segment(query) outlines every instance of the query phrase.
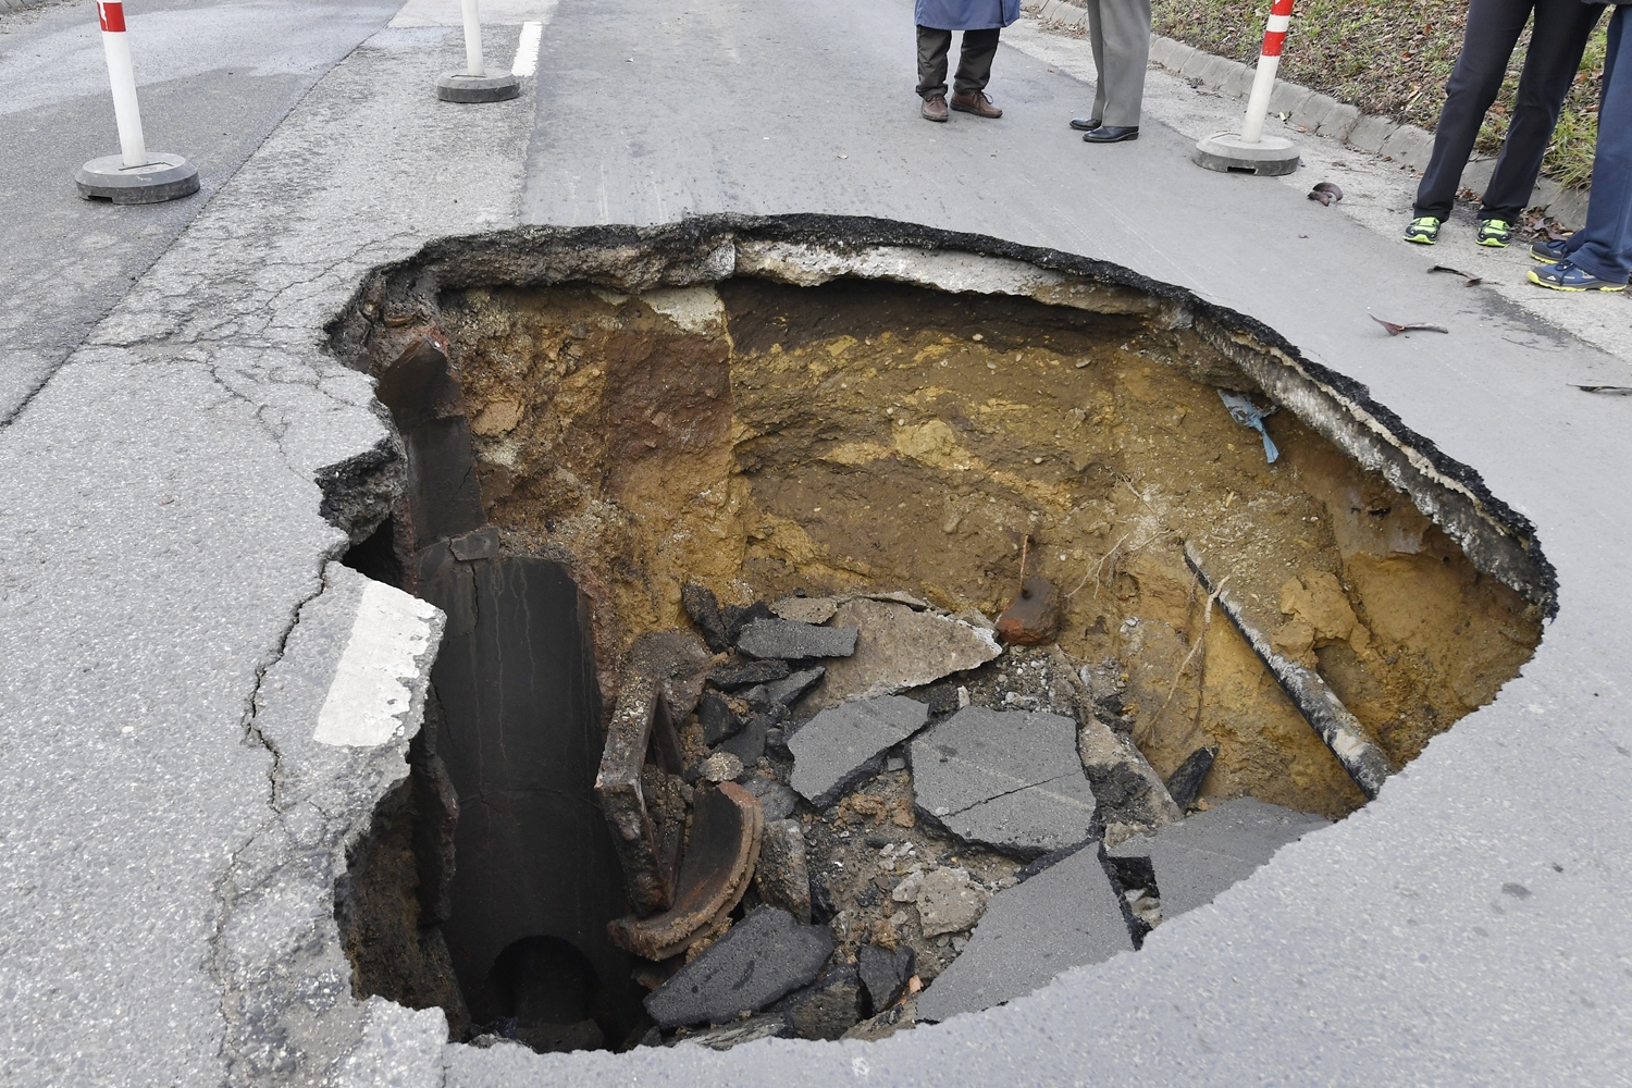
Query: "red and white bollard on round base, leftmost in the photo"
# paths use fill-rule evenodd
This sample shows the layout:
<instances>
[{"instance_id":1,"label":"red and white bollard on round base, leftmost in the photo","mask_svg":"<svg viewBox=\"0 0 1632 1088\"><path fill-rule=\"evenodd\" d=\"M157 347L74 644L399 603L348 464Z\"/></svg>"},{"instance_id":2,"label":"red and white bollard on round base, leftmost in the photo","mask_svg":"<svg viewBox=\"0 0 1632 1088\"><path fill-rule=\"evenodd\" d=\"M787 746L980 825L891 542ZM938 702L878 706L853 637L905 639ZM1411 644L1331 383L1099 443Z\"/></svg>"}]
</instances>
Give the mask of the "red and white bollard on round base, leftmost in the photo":
<instances>
[{"instance_id":1,"label":"red and white bollard on round base, leftmost in the photo","mask_svg":"<svg viewBox=\"0 0 1632 1088\"><path fill-rule=\"evenodd\" d=\"M119 126L119 153L93 158L73 181L80 196L114 204L160 204L199 191L197 166L180 155L150 153L142 137L142 111L135 101L135 67L124 29L124 3L98 0L96 18L108 55L113 114Z\"/></svg>"}]
</instances>

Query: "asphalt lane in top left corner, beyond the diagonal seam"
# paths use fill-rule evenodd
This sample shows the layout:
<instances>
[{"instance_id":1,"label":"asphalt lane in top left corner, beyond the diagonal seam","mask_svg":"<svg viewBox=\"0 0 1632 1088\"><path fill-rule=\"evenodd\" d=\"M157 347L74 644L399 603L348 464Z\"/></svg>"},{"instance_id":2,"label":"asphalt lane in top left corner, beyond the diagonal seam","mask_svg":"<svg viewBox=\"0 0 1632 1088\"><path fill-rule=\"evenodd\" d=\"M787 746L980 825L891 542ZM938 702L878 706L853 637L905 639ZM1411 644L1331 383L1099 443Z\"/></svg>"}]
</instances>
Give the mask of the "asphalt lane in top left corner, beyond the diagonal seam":
<instances>
[{"instance_id":1,"label":"asphalt lane in top left corner, beyond the diagonal seam","mask_svg":"<svg viewBox=\"0 0 1632 1088\"><path fill-rule=\"evenodd\" d=\"M186 228L300 96L397 11L387 0L131 0L147 147L199 168L199 192L114 207L73 171L119 150L96 8L0 11L0 424Z\"/></svg>"}]
</instances>

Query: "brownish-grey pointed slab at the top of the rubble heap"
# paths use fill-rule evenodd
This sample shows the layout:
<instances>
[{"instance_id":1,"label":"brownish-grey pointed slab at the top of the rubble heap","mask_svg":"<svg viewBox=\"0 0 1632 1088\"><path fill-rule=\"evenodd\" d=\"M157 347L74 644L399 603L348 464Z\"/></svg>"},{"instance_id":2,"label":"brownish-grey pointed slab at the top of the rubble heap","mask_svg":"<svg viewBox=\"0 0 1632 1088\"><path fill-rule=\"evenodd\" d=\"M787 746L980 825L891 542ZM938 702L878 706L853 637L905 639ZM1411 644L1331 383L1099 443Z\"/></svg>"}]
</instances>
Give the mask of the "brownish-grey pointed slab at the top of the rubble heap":
<instances>
[{"instance_id":1,"label":"brownish-grey pointed slab at the top of the rubble heap","mask_svg":"<svg viewBox=\"0 0 1632 1088\"><path fill-rule=\"evenodd\" d=\"M844 602L834 623L857 628L855 654L827 664L814 693L823 706L896 695L1002 652L991 631L963 620L867 597Z\"/></svg>"}]
</instances>

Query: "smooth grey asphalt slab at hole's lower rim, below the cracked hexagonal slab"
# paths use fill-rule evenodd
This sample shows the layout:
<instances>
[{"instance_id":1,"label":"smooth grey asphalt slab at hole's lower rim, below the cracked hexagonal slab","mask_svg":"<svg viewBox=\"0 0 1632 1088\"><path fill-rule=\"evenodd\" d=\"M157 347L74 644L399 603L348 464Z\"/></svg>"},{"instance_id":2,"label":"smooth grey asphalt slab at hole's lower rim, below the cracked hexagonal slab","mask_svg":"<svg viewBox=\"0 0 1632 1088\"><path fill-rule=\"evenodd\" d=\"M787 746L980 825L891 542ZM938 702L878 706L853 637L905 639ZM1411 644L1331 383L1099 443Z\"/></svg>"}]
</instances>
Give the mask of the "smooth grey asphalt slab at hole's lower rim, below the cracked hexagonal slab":
<instances>
[{"instance_id":1,"label":"smooth grey asphalt slab at hole's lower rim, below the cracked hexagonal slab","mask_svg":"<svg viewBox=\"0 0 1632 1088\"><path fill-rule=\"evenodd\" d=\"M919 997L919 1019L1000 1005L1067 967L1133 951L1100 850L1079 850L992 897L968 948Z\"/></svg>"}]
</instances>

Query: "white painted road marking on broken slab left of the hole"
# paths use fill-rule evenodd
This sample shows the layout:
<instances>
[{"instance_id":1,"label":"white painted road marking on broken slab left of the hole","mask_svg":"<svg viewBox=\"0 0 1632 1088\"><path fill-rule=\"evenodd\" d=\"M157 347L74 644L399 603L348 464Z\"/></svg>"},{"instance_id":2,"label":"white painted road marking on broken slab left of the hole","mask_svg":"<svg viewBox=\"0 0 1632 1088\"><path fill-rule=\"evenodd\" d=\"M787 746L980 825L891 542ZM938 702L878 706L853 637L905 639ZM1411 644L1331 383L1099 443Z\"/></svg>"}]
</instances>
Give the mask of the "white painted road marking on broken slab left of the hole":
<instances>
[{"instance_id":1,"label":"white painted road marking on broken slab left of the hole","mask_svg":"<svg viewBox=\"0 0 1632 1088\"><path fill-rule=\"evenodd\" d=\"M375 747L397 736L413 706L408 682L419 672L416 659L431 641L434 618L436 605L382 582L364 586L312 739Z\"/></svg>"}]
</instances>

